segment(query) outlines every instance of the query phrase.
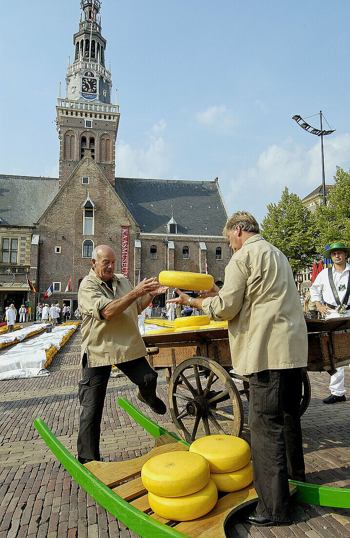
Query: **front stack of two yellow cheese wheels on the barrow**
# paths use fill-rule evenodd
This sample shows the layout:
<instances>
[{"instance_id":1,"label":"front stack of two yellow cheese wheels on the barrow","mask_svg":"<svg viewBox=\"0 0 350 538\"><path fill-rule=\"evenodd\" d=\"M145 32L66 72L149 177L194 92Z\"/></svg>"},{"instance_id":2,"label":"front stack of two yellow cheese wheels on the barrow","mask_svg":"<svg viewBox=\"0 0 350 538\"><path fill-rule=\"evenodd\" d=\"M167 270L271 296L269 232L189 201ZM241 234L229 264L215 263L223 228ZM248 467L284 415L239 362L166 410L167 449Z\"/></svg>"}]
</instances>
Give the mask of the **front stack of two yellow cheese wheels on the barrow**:
<instances>
[{"instance_id":1,"label":"front stack of two yellow cheese wheels on the barrow","mask_svg":"<svg viewBox=\"0 0 350 538\"><path fill-rule=\"evenodd\" d=\"M152 510L162 518L189 521L214 508L217 488L209 464L194 452L166 452L154 456L141 470Z\"/></svg>"}]
</instances>

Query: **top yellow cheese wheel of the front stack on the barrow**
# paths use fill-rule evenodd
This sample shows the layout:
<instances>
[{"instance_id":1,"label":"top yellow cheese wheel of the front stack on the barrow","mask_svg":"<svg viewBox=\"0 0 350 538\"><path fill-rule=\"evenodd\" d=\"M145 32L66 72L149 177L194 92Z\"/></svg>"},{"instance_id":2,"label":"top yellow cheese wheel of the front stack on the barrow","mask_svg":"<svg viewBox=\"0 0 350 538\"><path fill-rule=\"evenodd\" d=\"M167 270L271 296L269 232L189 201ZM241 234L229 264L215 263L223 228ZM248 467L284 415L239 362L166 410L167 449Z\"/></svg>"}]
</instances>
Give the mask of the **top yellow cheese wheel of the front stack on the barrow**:
<instances>
[{"instance_id":1,"label":"top yellow cheese wheel of the front stack on the barrow","mask_svg":"<svg viewBox=\"0 0 350 538\"><path fill-rule=\"evenodd\" d=\"M208 484L208 462L194 452L166 452L146 462L141 470L144 487L162 497L182 497Z\"/></svg>"}]
</instances>

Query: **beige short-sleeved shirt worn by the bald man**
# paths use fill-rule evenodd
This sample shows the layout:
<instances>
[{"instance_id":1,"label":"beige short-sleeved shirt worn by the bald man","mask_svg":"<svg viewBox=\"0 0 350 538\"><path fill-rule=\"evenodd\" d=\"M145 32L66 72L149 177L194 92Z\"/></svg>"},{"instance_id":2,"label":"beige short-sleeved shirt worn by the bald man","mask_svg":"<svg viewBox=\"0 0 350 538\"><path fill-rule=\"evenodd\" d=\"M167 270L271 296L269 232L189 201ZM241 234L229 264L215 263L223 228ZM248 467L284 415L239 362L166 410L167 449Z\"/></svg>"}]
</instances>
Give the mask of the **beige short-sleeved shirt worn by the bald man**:
<instances>
[{"instance_id":1,"label":"beige short-sleeved shirt worn by the bald man","mask_svg":"<svg viewBox=\"0 0 350 538\"><path fill-rule=\"evenodd\" d=\"M146 353L137 325L141 298L111 320L100 316L100 310L132 289L122 274L115 274L112 280L113 292L91 269L79 287L78 305L83 315L82 357L86 352L88 366L119 364Z\"/></svg>"}]
</instances>

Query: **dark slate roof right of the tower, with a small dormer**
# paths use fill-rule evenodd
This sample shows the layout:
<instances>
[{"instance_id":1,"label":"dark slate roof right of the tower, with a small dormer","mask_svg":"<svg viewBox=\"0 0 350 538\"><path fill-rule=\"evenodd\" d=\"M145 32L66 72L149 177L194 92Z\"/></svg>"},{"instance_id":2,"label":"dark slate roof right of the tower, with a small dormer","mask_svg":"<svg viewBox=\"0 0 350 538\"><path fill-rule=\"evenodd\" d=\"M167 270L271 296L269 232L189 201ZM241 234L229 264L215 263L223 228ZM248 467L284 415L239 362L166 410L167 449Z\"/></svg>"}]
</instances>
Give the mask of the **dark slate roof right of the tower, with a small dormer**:
<instances>
[{"instance_id":1,"label":"dark slate roof right of the tower, with a small dormer","mask_svg":"<svg viewBox=\"0 0 350 538\"><path fill-rule=\"evenodd\" d=\"M215 181L115 178L115 192L145 233L167 233L173 213L178 233L221 236L228 217Z\"/></svg>"}]
</instances>

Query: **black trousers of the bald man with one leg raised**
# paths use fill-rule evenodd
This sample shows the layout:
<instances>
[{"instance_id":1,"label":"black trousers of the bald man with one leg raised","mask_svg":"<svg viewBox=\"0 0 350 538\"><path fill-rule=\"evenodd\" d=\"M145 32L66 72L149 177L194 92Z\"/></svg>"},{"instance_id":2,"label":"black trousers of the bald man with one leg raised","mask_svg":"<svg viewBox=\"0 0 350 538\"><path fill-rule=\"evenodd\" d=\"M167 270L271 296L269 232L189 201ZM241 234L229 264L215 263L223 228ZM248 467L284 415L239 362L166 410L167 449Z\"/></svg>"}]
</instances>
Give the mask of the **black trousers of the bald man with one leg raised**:
<instances>
[{"instance_id":1,"label":"black trousers of the bald man with one leg raised","mask_svg":"<svg viewBox=\"0 0 350 538\"><path fill-rule=\"evenodd\" d=\"M145 357L118 364L119 370L138 385L143 399L155 405L158 374ZM100 435L105 397L112 366L88 366L86 354L83 356L83 379L78 384L78 396L83 407L79 420L77 440L78 461L101 461Z\"/></svg>"}]
</instances>

